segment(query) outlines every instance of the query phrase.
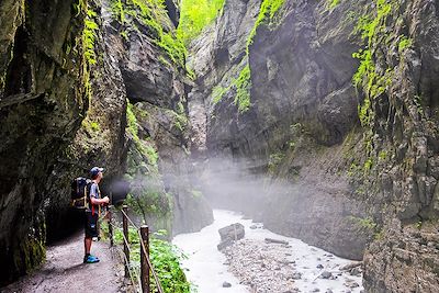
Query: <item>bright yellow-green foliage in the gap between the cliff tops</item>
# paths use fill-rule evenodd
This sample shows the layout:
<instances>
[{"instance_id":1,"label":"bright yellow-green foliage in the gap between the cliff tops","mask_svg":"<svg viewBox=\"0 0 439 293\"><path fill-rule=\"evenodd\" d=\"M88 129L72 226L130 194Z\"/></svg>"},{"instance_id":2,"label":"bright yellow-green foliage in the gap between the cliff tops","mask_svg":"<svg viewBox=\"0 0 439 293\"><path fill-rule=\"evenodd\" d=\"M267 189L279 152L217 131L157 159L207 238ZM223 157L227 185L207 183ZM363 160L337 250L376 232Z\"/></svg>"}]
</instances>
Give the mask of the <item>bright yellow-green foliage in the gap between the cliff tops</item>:
<instances>
[{"instance_id":1,"label":"bright yellow-green foliage in the gap between the cliff tops","mask_svg":"<svg viewBox=\"0 0 439 293\"><path fill-rule=\"evenodd\" d=\"M178 35L184 44L195 38L222 11L225 0L182 0Z\"/></svg>"}]
</instances>

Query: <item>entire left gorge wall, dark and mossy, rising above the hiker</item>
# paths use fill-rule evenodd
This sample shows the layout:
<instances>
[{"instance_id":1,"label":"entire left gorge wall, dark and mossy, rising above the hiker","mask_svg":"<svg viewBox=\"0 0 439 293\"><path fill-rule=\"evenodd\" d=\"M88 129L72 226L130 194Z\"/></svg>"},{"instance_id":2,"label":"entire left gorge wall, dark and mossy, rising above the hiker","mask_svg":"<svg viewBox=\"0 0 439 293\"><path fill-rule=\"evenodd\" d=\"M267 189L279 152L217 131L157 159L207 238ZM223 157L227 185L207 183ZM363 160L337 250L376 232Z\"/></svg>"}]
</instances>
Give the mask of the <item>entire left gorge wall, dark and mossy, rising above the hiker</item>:
<instances>
[{"instance_id":1,"label":"entire left gorge wall, dark and mossy, rising above the hiker","mask_svg":"<svg viewBox=\"0 0 439 293\"><path fill-rule=\"evenodd\" d=\"M142 195L146 187L137 183L156 180L155 202L146 205L153 229L212 222L187 172L185 56L175 58L158 42L175 24L166 7L145 2L154 12L146 15L136 3L0 4L10 20L0 27L0 285L37 267L46 240L82 225L69 209L70 182L92 166L105 168L105 194L123 179Z\"/></svg>"}]
</instances>

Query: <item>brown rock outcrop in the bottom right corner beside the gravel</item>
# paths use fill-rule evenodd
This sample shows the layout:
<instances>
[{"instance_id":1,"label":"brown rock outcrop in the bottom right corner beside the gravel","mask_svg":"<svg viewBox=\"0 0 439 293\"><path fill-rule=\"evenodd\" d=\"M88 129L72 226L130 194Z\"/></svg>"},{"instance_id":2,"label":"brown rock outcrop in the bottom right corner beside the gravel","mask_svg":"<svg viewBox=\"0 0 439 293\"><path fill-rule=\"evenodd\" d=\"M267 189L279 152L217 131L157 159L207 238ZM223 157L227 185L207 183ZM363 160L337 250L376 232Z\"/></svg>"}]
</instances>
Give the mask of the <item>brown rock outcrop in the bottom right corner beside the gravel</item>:
<instances>
[{"instance_id":1,"label":"brown rock outcrop in the bottom right corner beside the gravel","mask_svg":"<svg viewBox=\"0 0 439 293\"><path fill-rule=\"evenodd\" d=\"M364 256L367 292L435 292L439 286L438 232L393 219Z\"/></svg>"}]
</instances>

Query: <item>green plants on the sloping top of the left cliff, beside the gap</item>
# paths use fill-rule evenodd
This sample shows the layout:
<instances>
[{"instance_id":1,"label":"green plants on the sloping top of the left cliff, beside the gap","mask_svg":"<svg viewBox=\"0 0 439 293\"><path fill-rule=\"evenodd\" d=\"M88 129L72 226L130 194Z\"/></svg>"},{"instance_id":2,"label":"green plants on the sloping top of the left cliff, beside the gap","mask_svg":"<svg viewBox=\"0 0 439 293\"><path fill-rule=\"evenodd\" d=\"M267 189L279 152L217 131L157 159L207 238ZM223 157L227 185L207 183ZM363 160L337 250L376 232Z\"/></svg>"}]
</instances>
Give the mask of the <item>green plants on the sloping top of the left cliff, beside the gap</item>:
<instances>
[{"instance_id":1,"label":"green plants on the sloping top of the left cliff, beside the gap","mask_svg":"<svg viewBox=\"0 0 439 293\"><path fill-rule=\"evenodd\" d=\"M165 0L112 0L111 7L114 18L125 30L125 38L130 30L140 30L137 26L140 23L149 30L154 44L161 47L172 63L185 68L184 43L178 34L166 31L161 24L168 18Z\"/></svg>"}]
</instances>

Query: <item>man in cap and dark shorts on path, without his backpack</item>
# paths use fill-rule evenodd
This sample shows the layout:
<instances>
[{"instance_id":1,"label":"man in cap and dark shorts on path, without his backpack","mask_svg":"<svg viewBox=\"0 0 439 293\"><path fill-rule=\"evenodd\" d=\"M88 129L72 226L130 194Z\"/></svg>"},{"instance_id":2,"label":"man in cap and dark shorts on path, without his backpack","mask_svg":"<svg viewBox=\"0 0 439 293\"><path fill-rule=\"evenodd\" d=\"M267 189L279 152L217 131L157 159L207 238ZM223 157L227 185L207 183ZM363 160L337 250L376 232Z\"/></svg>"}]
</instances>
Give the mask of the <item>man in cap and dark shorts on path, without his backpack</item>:
<instances>
[{"instance_id":1,"label":"man in cap and dark shorts on path, without his backpack","mask_svg":"<svg viewBox=\"0 0 439 293\"><path fill-rule=\"evenodd\" d=\"M102 180L103 168L93 167L90 170L91 184L90 184L90 209L86 211L86 238L83 245L86 249L86 256L83 257L83 263L99 262L99 258L90 255L91 243L93 238L99 238L98 218L100 214L100 206L109 204L110 199L108 196L101 199L101 191L99 190L99 182Z\"/></svg>"}]
</instances>

